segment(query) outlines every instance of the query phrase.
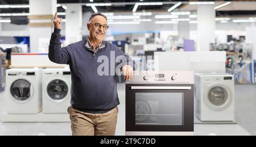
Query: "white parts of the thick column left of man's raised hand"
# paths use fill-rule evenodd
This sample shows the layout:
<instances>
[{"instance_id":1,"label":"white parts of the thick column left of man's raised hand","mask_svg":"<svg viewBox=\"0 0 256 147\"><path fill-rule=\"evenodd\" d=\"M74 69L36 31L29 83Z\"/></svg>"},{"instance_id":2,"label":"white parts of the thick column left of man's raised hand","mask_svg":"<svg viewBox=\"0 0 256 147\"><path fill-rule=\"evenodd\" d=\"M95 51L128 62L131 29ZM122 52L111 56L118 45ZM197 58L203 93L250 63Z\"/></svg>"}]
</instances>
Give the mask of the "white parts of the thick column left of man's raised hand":
<instances>
[{"instance_id":1,"label":"white parts of the thick column left of man's raised hand","mask_svg":"<svg viewBox=\"0 0 256 147\"><path fill-rule=\"evenodd\" d=\"M56 0L30 0L30 15L54 15L57 11L56 3ZM42 48L47 47L47 40L49 42L51 33L50 26L30 27L30 52L44 52L43 50L47 52L47 49Z\"/></svg>"}]
</instances>

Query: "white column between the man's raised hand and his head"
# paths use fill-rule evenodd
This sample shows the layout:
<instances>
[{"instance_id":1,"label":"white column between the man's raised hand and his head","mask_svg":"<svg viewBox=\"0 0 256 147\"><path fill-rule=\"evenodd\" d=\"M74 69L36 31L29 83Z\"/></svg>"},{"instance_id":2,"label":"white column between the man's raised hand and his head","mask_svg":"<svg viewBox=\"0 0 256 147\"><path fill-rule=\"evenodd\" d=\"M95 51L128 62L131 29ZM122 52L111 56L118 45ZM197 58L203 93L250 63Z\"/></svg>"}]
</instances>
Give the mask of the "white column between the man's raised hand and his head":
<instances>
[{"instance_id":1,"label":"white column between the man's raised hand and his head","mask_svg":"<svg viewBox=\"0 0 256 147\"><path fill-rule=\"evenodd\" d=\"M65 44L82 40L82 6L67 5L65 24Z\"/></svg>"}]
</instances>

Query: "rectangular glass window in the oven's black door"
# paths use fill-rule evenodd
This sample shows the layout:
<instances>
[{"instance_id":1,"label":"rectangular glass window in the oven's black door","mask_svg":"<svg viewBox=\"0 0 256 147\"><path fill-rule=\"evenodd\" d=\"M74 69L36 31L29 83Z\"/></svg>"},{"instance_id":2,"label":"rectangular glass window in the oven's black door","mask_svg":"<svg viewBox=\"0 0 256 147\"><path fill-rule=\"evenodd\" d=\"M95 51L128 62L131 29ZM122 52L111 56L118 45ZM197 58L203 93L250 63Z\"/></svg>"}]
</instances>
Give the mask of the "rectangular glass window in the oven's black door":
<instances>
[{"instance_id":1,"label":"rectangular glass window in the oven's black door","mask_svg":"<svg viewBox=\"0 0 256 147\"><path fill-rule=\"evenodd\" d=\"M183 125L183 93L135 96L135 125Z\"/></svg>"}]
</instances>

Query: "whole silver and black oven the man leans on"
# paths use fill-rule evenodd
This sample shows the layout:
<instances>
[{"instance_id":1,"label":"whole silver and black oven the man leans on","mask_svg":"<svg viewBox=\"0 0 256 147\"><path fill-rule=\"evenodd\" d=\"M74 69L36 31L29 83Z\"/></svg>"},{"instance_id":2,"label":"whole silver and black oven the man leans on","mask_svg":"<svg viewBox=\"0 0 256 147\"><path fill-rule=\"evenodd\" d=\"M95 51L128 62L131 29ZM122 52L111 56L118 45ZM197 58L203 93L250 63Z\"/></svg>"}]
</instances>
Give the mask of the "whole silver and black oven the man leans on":
<instances>
[{"instance_id":1,"label":"whole silver and black oven the man leans on","mask_svg":"<svg viewBox=\"0 0 256 147\"><path fill-rule=\"evenodd\" d=\"M126 82L126 135L193 135L193 72L134 71Z\"/></svg>"}]
</instances>

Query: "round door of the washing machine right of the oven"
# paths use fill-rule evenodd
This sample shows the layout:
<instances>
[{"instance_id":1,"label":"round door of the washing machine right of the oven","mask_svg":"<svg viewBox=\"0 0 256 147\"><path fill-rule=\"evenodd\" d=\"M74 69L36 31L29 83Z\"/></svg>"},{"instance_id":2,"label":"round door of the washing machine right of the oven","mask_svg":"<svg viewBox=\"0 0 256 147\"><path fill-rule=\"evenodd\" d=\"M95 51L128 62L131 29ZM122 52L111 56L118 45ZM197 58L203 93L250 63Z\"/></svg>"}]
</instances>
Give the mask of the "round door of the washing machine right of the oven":
<instances>
[{"instance_id":1,"label":"round door of the washing machine right of the oven","mask_svg":"<svg viewBox=\"0 0 256 147\"><path fill-rule=\"evenodd\" d=\"M221 83L210 85L204 94L204 102L214 111L223 111L232 103L233 95L228 86Z\"/></svg>"}]
</instances>

